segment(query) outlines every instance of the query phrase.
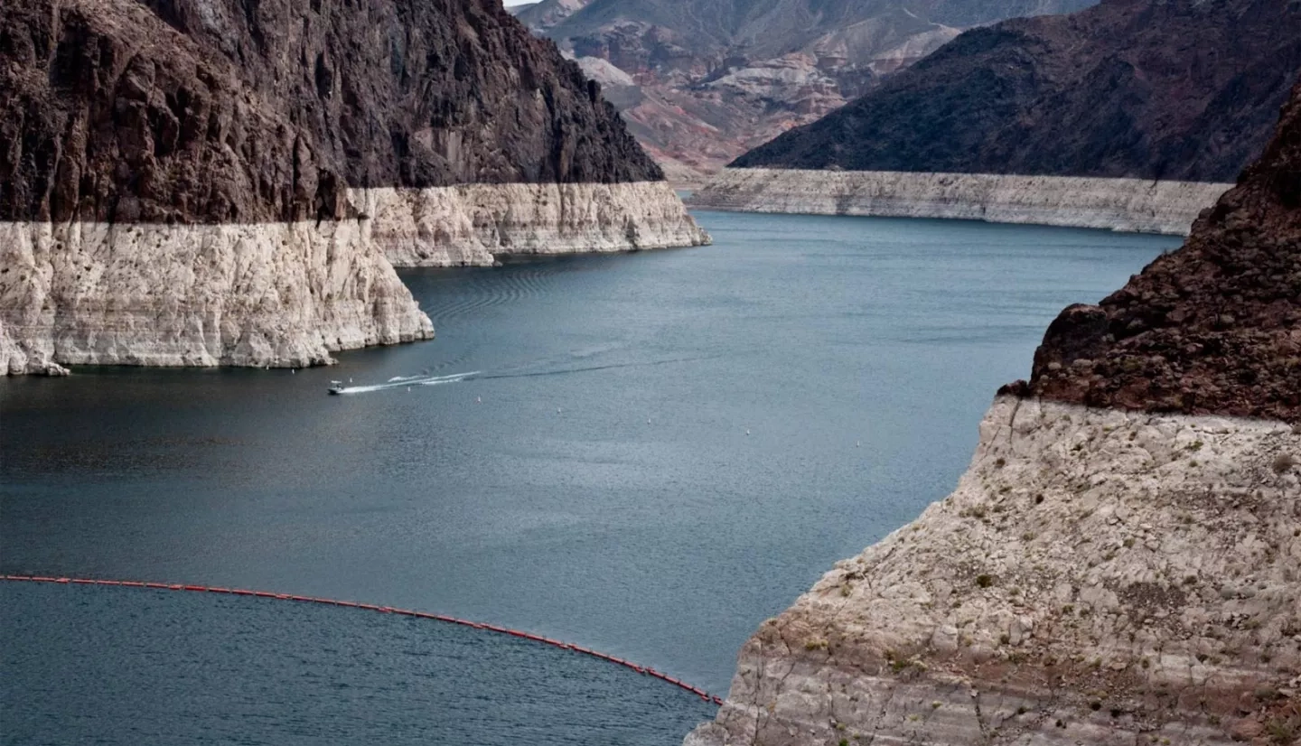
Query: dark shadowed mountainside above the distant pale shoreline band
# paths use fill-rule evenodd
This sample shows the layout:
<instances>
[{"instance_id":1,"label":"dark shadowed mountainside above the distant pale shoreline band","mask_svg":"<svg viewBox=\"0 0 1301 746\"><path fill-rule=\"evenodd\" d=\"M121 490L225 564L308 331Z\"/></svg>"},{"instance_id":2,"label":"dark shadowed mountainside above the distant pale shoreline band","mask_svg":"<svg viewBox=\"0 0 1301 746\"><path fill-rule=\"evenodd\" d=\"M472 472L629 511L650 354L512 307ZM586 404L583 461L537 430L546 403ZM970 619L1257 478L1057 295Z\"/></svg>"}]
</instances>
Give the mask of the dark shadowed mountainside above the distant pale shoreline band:
<instances>
[{"instance_id":1,"label":"dark shadowed mountainside above the distant pale shoreline band","mask_svg":"<svg viewBox=\"0 0 1301 746\"><path fill-rule=\"evenodd\" d=\"M1106 0L968 31L735 166L1232 181L1301 73L1301 5Z\"/></svg>"}]
</instances>

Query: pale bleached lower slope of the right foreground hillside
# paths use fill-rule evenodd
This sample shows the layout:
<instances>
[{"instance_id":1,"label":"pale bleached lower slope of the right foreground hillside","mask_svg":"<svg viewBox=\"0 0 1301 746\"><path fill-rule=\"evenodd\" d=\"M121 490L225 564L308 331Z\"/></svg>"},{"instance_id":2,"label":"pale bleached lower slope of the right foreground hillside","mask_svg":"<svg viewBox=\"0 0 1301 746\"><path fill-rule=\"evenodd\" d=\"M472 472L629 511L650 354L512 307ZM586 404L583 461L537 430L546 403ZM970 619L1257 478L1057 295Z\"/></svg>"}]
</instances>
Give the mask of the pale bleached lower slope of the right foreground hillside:
<instances>
[{"instance_id":1,"label":"pale bleached lower slope of the right foreground hillside","mask_svg":"<svg viewBox=\"0 0 1301 746\"><path fill-rule=\"evenodd\" d=\"M1002 396L958 489L764 623L687 743L1194 746L1301 725L1291 454L1283 422Z\"/></svg>"}]
</instances>

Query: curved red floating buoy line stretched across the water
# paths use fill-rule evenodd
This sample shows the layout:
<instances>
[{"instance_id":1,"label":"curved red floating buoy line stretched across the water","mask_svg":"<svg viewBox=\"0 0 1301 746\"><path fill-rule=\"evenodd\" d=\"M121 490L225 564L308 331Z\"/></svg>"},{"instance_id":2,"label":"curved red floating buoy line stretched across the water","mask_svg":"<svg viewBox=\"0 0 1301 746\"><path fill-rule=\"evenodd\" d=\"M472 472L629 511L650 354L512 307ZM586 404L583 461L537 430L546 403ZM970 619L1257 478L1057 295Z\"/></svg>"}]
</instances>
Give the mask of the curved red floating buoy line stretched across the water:
<instances>
[{"instance_id":1,"label":"curved red floating buoy line stretched across the water","mask_svg":"<svg viewBox=\"0 0 1301 746\"><path fill-rule=\"evenodd\" d=\"M288 594L288 593L271 593L271 591L265 591L265 590L245 590L245 589L238 589L238 587L216 587L216 586L206 586L206 585L183 585L183 584L168 584L168 582L142 582L142 581L133 581L133 580L87 580L87 578L79 578L79 577L44 577L44 576L30 576L30 574L5 574L5 576L0 576L0 580L20 581L20 582L49 582L49 584L60 584L60 585L107 585L107 586L117 586L117 587L143 587L143 589L152 589L152 590L189 590L189 591L195 591L195 593L221 593L221 594L226 594L226 595L251 595L251 597L255 597L255 598L272 598L272 599L278 599L278 600L298 600L298 602L304 602L304 603L320 603L320 604L325 604L325 606L341 606L341 607L346 607L346 608L364 608L367 611L377 611L377 612L381 612L381 613L398 613L398 615L402 615L402 616L414 616L416 619L432 619L435 621L444 621L444 623L449 623L449 624L459 624L462 626L472 626L475 629L487 629L488 632L496 632L498 634L509 634L511 637L519 637L519 638L523 638L523 639L530 639L532 642L541 642L541 643L545 643L545 645L550 645L553 647L559 647L562 650L571 650L574 652L580 652L583 655L589 655L592 658L600 658L601 660L606 660L609 663L615 663L618 665L624 665L627 668L631 668L632 671L636 671L637 673L641 673L644 676L653 676L654 678L658 678L661 681L667 681L669 684L673 684L674 686L677 686L679 689L684 689L684 690L695 694L696 697L700 697L705 702L713 702L714 704L722 704L723 703L723 701L722 701L721 697L714 697L714 695L709 694L708 691L705 691L704 689L692 686L692 685L687 684L686 681L679 681L679 680L669 676L667 673L660 673L658 671L656 671L654 668L650 668L648 665L637 665L636 663L632 663L631 660L623 660L622 658L615 658L613 655L606 655L604 652L598 652L596 650L591 650L591 649L583 647L580 645L572 645L572 643L569 643L569 642L561 642L559 639L552 639L549 637L541 637L541 636L537 636L537 634L530 634L527 632L520 632L518 629L507 629L505 626L497 626L494 624L484 624L484 623L480 623L480 621L470 621L467 619L457 619L454 616L446 616L446 615L442 615L442 613L429 613L429 612L424 612L424 611L411 611L411 610L406 610L406 608L393 608L390 606L376 606L373 603L358 603L355 600L336 600L336 599L332 599L332 598L316 598L316 597L312 597L312 595L294 595L294 594Z\"/></svg>"}]
</instances>

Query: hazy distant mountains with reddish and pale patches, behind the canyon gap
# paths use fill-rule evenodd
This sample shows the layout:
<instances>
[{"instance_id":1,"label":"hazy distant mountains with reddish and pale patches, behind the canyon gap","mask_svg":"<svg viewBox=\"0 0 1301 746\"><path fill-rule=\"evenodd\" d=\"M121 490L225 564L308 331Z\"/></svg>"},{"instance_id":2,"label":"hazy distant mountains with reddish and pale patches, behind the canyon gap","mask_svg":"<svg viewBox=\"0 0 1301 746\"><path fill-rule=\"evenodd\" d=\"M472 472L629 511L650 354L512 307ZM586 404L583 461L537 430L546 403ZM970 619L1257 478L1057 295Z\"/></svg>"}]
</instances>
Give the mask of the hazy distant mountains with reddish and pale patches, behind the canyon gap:
<instances>
[{"instance_id":1,"label":"hazy distant mountains with reddish and pale patches, behind the canyon gap","mask_svg":"<svg viewBox=\"0 0 1301 746\"><path fill-rule=\"evenodd\" d=\"M544 0L520 18L580 61L631 78L608 90L630 130L670 178L699 182L961 29L1092 1Z\"/></svg>"}]
</instances>

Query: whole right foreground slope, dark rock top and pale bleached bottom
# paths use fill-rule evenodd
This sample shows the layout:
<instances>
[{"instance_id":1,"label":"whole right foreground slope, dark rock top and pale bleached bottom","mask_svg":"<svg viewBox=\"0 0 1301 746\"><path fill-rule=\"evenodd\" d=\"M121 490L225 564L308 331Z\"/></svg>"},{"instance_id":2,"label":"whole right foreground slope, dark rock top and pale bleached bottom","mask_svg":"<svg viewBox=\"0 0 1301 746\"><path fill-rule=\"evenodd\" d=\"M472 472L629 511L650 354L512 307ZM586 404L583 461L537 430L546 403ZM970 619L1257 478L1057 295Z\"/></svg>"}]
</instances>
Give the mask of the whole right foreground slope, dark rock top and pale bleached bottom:
<instances>
[{"instance_id":1,"label":"whole right foreground slope, dark rock top and pale bleached bottom","mask_svg":"<svg viewBox=\"0 0 1301 746\"><path fill-rule=\"evenodd\" d=\"M1296 743L1298 144L1301 83L1185 247L1066 309L958 489L764 623L687 743Z\"/></svg>"}]
</instances>

